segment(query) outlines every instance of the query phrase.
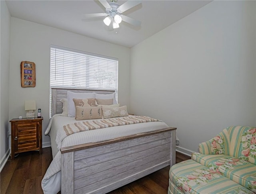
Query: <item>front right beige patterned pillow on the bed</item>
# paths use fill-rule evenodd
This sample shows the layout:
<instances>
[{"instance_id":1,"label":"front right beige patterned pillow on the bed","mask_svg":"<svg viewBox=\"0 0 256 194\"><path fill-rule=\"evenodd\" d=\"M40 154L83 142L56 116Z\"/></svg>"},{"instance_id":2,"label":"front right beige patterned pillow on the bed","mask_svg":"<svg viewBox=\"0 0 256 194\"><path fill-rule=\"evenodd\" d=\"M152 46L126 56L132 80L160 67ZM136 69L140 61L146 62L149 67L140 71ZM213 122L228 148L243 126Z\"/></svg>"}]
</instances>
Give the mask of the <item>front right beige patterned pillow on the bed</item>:
<instances>
[{"instance_id":1,"label":"front right beige patterned pillow on the bed","mask_svg":"<svg viewBox=\"0 0 256 194\"><path fill-rule=\"evenodd\" d=\"M126 116L128 116L126 106L112 107L112 108L102 107L103 119L108 119L113 117L126 117Z\"/></svg>"}]
</instances>

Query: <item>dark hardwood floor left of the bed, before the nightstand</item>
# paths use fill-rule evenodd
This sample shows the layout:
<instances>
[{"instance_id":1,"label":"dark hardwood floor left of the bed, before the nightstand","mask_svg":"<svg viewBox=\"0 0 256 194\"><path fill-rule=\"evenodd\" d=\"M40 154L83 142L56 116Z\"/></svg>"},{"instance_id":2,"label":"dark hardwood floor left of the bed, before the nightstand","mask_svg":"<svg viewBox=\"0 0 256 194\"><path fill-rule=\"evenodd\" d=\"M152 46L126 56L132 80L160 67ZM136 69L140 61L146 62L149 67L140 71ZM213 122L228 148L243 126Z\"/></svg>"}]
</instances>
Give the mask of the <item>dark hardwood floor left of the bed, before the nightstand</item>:
<instances>
[{"instance_id":1,"label":"dark hardwood floor left of the bed, before the nightstand","mask_svg":"<svg viewBox=\"0 0 256 194\"><path fill-rule=\"evenodd\" d=\"M52 161L52 149L20 153L8 159L0 174L1 194L43 194L41 180Z\"/></svg>"}]
</instances>

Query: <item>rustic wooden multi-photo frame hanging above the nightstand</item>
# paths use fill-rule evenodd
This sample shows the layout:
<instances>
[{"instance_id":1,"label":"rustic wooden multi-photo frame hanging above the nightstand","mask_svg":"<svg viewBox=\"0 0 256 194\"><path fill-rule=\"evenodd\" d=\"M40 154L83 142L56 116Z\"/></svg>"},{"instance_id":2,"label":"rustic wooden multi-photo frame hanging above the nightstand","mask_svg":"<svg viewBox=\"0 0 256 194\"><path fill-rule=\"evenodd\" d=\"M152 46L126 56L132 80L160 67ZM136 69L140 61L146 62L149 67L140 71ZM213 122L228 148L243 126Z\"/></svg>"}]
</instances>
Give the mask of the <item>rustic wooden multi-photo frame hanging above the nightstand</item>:
<instances>
[{"instance_id":1,"label":"rustic wooden multi-photo frame hanging above the nightstand","mask_svg":"<svg viewBox=\"0 0 256 194\"><path fill-rule=\"evenodd\" d=\"M21 87L36 86L36 65L34 62L22 61L20 63Z\"/></svg>"}]
</instances>

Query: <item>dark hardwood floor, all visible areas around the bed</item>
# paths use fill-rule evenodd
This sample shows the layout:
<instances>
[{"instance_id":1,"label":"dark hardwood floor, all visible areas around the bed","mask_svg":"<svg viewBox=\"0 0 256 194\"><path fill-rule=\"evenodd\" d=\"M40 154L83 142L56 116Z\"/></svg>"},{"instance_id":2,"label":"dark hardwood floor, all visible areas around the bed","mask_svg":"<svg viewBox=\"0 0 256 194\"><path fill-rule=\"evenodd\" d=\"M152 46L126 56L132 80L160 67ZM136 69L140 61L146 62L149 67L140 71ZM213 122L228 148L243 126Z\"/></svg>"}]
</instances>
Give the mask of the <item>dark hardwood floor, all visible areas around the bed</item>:
<instances>
[{"instance_id":1,"label":"dark hardwood floor, all visible areas around the bed","mask_svg":"<svg viewBox=\"0 0 256 194\"><path fill-rule=\"evenodd\" d=\"M186 159L190 157L176 153L176 163ZM43 194L41 180L51 161L50 147L43 148L42 155L31 151L20 153L13 160L9 158L0 174L0 193ZM108 194L166 194L169 169L170 167L160 169Z\"/></svg>"}]
</instances>

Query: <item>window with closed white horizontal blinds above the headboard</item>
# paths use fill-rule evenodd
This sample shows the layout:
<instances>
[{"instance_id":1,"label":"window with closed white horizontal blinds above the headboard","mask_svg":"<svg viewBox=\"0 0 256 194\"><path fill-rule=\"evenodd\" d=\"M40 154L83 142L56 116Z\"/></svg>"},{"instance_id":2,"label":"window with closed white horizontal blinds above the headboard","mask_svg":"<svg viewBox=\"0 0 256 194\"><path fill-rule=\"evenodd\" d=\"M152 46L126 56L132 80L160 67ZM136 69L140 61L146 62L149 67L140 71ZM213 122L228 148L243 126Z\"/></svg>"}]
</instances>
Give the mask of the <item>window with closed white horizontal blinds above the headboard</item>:
<instances>
[{"instance_id":1,"label":"window with closed white horizontal blinds above the headboard","mask_svg":"<svg viewBox=\"0 0 256 194\"><path fill-rule=\"evenodd\" d=\"M118 59L51 45L51 88L115 90L118 101Z\"/></svg>"}]
</instances>

